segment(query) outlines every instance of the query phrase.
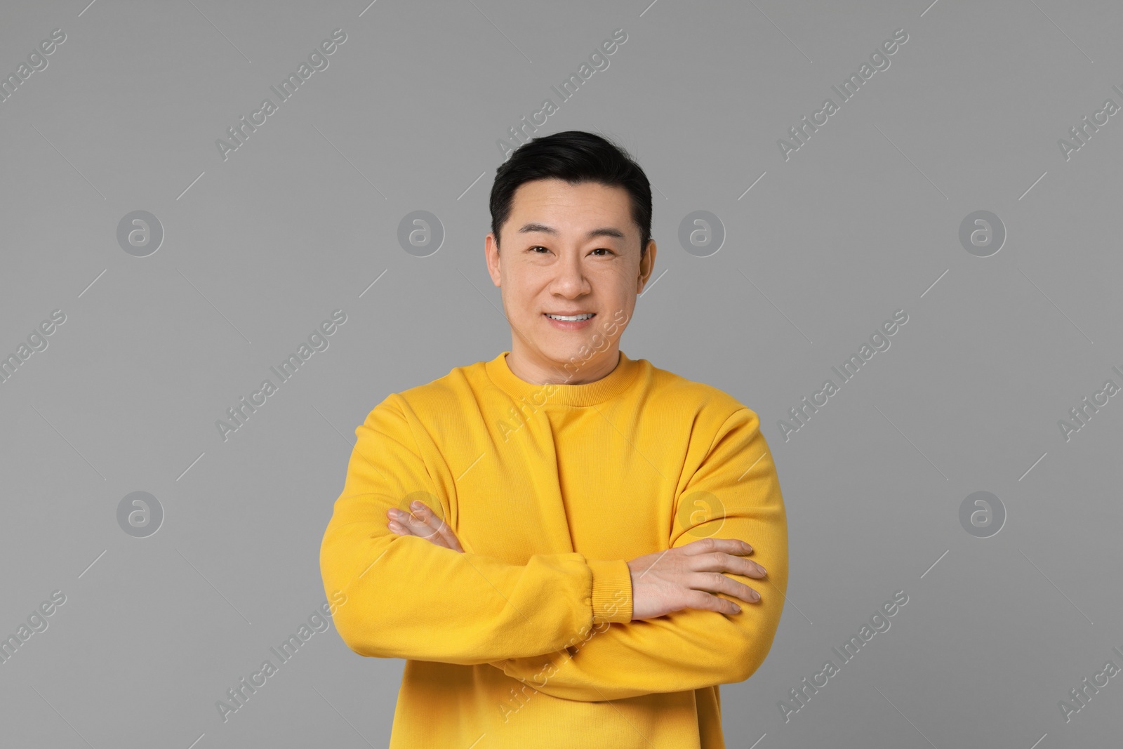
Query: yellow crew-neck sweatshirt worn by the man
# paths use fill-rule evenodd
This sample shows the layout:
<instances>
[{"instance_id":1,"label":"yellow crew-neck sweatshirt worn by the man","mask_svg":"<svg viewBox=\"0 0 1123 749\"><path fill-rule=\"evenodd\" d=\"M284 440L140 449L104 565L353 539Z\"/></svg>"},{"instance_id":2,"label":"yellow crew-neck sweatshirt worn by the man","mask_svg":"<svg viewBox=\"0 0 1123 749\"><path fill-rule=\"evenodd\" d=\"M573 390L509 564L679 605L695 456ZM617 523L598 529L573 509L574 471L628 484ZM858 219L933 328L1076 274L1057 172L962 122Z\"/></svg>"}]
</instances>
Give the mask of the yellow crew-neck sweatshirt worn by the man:
<instances>
[{"instance_id":1,"label":"yellow crew-neck sweatshirt worn by the man","mask_svg":"<svg viewBox=\"0 0 1123 749\"><path fill-rule=\"evenodd\" d=\"M340 637L407 660L390 749L723 748L718 685L764 661L787 588L757 414L622 351L579 385L508 353L376 405L323 535ZM417 499L463 554L386 528ZM760 601L631 621L628 560L706 537L752 546L767 578L724 574Z\"/></svg>"}]
</instances>

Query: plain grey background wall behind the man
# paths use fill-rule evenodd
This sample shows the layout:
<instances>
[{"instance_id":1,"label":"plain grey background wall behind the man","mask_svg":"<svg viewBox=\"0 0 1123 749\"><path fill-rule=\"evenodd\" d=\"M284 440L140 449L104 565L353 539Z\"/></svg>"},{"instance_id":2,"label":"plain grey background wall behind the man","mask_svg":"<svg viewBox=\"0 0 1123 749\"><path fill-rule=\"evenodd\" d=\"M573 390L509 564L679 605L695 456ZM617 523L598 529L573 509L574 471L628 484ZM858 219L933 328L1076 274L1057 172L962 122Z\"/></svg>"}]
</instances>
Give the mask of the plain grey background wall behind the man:
<instances>
[{"instance_id":1,"label":"plain grey background wall behind the man","mask_svg":"<svg viewBox=\"0 0 1123 749\"><path fill-rule=\"evenodd\" d=\"M1123 383L1123 115L1068 161L1057 144L1123 104L1116 3L0 16L3 75L66 34L0 103L0 353L66 314L0 384L0 633L66 596L0 665L4 746L386 746L403 661L334 628L227 722L214 703L323 603L319 544L367 411L510 348L483 262L496 140L617 28L539 135L596 130L646 170L658 280L622 349L757 411L788 511L788 603L764 666L722 687L728 746L1119 742L1119 678L1067 724L1058 707L1123 666L1123 398L1058 427ZM336 28L329 67L223 161L214 140ZM898 28L889 68L785 161L777 138ZM135 210L163 227L147 257L117 243ZM398 244L414 210L445 230L428 257ZM709 257L677 240L695 210L724 227ZM990 257L958 239L976 210L1007 231ZM216 420L339 308L329 348L223 442ZM892 347L785 441L777 420L898 309ZM136 491L164 512L147 538L117 520ZM959 521L976 491L1007 513L989 538ZM892 628L785 722L777 701L898 590Z\"/></svg>"}]
</instances>

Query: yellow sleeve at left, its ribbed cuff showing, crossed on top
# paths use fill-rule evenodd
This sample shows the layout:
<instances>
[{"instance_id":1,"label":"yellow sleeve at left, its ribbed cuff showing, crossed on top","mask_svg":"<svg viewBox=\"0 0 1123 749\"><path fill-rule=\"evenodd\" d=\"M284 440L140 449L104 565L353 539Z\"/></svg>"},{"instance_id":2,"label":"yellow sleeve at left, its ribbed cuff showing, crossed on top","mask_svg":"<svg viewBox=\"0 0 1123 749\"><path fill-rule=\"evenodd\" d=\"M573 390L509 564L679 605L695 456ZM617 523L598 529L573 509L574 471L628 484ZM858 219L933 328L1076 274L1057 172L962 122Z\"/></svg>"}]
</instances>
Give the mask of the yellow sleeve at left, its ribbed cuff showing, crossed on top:
<instances>
[{"instance_id":1,"label":"yellow sleeve at left, its ribbed cuff showing, crossed on top","mask_svg":"<svg viewBox=\"0 0 1123 749\"><path fill-rule=\"evenodd\" d=\"M391 395L356 428L347 477L320 547L325 591L346 595L334 621L355 652L485 664L565 647L594 621L623 621L613 605L631 583L623 560L541 554L526 565L460 554L386 528L386 510L413 492L440 496L411 426ZM436 509L436 508L435 508Z\"/></svg>"}]
</instances>

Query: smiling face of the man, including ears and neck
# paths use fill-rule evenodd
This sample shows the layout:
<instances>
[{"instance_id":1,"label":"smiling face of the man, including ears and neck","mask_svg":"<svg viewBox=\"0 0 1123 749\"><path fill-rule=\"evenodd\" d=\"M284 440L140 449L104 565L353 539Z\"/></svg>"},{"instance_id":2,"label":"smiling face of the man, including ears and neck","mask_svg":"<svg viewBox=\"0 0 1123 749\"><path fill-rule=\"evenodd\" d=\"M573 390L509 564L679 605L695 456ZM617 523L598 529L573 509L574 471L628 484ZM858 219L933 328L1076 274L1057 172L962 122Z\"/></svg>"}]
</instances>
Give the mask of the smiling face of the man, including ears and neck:
<instances>
[{"instance_id":1,"label":"smiling face of the man, including ears and neck","mask_svg":"<svg viewBox=\"0 0 1123 749\"><path fill-rule=\"evenodd\" d=\"M656 253L649 241L640 261L628 191L593 182L524 182L500 239L496 248L487 235L487 271L511 323L512 371L551 372L554 381L557 373L573 375L575 384L611 372ZM587 312L592 319L578 322L547 317Z\"/></svg>"}]
</instances>

